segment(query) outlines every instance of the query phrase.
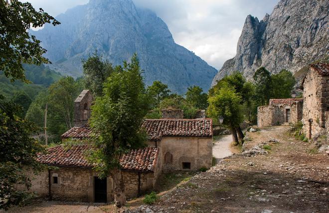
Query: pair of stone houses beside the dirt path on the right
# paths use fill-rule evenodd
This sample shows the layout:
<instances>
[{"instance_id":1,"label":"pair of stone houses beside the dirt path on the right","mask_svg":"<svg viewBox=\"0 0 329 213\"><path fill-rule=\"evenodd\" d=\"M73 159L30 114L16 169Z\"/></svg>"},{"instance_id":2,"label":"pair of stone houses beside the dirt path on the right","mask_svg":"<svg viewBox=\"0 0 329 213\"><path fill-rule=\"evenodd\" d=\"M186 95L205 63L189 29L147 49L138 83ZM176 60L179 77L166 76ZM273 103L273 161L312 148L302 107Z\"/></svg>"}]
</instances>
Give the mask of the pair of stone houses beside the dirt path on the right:
<instances>
[{"instance_id":1,"label":"pair of stone houses beside the dirt path on the right","mask_svg":"<svg viewBox=\"0 0 329 213\"><path fill-rule=\"evenodd\" d=\"M258 126L302 121L309 139L329 136L329 64L311 64L302 87L301 99L271 99L268 106L259 106Z\"/></svg>"}]
</instances>

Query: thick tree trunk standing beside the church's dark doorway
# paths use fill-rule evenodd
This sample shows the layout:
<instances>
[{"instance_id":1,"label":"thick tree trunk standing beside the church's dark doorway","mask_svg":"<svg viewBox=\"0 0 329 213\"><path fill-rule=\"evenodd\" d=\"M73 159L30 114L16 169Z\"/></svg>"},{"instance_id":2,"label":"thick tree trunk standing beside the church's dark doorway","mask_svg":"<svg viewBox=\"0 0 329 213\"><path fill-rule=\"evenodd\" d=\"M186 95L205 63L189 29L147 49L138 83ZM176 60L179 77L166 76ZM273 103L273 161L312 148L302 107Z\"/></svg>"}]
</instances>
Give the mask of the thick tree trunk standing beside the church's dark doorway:
<instances>
[{"instance_id":1,"label":"thick tree trunk standing beside the church's dark doorway","mask_svg":"<svg viewBox=\"0 0 329 213\"><path fill-rule=\"evenodd\" d=\"M125 182L121 170L114 168L111 170L111 176L114 182L114 203L118 208L126 205Z\"/></svg>"}]
</instances>

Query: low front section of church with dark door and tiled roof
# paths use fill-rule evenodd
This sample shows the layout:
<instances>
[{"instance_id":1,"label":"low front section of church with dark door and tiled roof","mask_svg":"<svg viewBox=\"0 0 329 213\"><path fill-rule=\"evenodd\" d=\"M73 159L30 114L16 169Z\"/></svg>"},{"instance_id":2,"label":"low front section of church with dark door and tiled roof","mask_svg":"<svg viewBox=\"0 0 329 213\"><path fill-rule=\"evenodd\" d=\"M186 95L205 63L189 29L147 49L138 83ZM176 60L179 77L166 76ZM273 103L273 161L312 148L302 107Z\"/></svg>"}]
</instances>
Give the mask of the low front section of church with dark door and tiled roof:
<instances>
[{"instance_id":1,"label":"low front section of church with dark door and tiled roof","mask_svg":"<svg viewBox=\"0 0 329 213\"><path fill-rule=\"evenodd\" d=\"M98 178L94 165L86 159L91 145L58 145L39 154L38 161L56 169L43 171L32 179L31 191L39 196L81 202L111 202L114 200L114 183L111 177ZM127 198L138 197L152 191L161 172L159 149L147 147L132 150L120 159Z\"/></svg>"}]
</instances>

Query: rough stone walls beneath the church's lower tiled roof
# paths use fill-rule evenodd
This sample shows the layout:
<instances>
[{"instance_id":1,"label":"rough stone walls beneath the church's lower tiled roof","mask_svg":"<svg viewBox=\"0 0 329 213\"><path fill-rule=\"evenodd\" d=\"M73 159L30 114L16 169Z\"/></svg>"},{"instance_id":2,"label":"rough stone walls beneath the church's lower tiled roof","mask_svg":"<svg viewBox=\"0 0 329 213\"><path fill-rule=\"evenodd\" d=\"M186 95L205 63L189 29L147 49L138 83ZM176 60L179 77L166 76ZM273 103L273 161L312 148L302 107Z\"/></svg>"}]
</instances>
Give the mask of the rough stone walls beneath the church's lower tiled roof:
<instances>
[{"instance_id":1,"label":"rough stone walls beneath the church's lower tiled roof","mask_svg":"<svg viewBox=\"0 0 329 213\"><path fill-rule=\"evenodd\" d=\"M97 173L88 168L58 167L52 170L51 176L51 195L54 200L94 202L94 177ZM156 178L159 176L159 169L153 172L141 172L140 193L143 194L152 191L155 186ZM123 171L125 191L127 198L138 196L139 174L135 171ZM36 192L39 197L49 196L49 177L48 171L43 171L37 176L32 177L32 186L30 191ZM57 177L57 184L53 181ZM114 200L114 182L112 178L107 178L107 201Z\"/></svg>"}]
</instances>

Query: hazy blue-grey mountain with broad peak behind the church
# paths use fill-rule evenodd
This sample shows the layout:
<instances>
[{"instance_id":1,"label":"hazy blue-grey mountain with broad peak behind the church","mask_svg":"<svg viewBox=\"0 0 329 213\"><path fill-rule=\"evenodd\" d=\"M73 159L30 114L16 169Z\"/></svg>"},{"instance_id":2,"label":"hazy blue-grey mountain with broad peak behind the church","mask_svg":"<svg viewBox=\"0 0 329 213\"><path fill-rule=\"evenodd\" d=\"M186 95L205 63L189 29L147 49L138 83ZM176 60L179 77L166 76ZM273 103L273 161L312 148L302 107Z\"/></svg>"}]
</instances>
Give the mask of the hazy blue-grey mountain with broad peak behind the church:
<instances>
[{"instance_id":1,"label":"hazy blue-grey mountain with broad peak behind the church","mask_svg":"<svg viewBox=\"0 0 329 213\"><path fill-rule=\"evenodd\" d=\"M51 69L64 75L82 75L81 59L97 49L114 65L130 60L137 52L145 83L168 84L184 93L197 85L207 91L217 70L200 57L176 44L165 22L149 9L135 7L132 0L90 0L56 17L61 22L33 31Z\"/></svg>"}]
</instances>

